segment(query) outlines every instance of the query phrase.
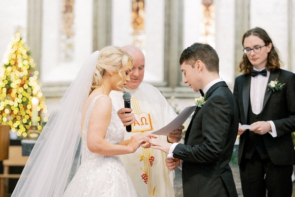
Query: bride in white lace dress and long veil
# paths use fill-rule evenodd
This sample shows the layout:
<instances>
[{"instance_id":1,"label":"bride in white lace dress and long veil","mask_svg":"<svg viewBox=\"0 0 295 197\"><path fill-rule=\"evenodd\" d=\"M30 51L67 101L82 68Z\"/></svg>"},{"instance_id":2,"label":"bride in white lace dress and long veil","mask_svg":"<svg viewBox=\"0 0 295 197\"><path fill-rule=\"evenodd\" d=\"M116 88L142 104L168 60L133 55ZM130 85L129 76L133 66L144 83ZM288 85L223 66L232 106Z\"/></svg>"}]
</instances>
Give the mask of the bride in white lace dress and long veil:
<instances>
[{"instance_id":1,"label":"bride in white lace dress and long veil","mask_svg":"<svg viewBox=\"0 0 295 197\"><path fill-rule=\"evenodd\" d=\"M109 98L130 80L132 65L116 46L91 54L40 134L12 197L136 197L118 155L149 148L156 136L122 141L126 131Z\"/></svg>"}]
</instances>

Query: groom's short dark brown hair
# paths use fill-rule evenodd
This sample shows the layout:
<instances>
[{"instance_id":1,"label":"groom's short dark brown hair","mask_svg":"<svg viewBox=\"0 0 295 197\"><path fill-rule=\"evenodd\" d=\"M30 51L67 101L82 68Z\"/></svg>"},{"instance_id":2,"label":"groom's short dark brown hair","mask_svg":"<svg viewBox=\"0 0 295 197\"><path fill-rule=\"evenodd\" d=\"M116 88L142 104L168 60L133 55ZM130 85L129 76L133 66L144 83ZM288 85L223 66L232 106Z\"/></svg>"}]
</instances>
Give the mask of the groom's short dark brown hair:
<instances>
[{"instance_id":1,"label":"groom's short dark brown hair","mask_svg":"<svg viewBox=\"0 0 295 197\"><path fill-rule=\"evenodd\" d=\"M198 60L201 60L206 65L209 72L219 72L218 55L215 49L208 44L194 43L184 49L180 56L179 64L188 63L194 67Z\"/></svg>"}]
</instances>

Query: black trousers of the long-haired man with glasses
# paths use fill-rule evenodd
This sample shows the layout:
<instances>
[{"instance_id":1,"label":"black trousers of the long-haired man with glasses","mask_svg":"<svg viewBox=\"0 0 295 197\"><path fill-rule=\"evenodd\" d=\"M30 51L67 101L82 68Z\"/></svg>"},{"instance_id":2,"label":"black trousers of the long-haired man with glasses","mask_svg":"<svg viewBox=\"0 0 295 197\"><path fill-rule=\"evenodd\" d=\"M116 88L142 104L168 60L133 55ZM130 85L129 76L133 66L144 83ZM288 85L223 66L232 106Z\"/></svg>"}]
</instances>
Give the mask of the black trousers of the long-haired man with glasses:
<instances>
[{"instance_id":1,"label":"black trousers of the long-haired man with glasses","mask_svg":"<svg viewBox=\"0 0 295 197\"><path fill-rule=\"evenodd\" d=\"M291 197L293 165L274 165L254 152L239 165L244 197Z\"/></svg>"}]
</instances>

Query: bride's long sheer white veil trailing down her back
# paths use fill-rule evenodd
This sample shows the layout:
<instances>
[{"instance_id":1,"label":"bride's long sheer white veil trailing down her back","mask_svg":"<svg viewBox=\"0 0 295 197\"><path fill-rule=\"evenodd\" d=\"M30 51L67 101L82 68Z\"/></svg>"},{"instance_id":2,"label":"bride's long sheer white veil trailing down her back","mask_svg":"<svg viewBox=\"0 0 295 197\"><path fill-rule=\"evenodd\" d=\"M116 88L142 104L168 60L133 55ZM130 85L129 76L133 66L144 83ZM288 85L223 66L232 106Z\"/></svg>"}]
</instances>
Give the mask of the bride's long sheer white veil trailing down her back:
<instances>
[{"instance_id":1,"label":"bride's long sheer white veil trailing down her back","mask_svg":"<svg viewBox=\"0 0 295 197\"><path fill-rule=\"evenodd\" d=\"M41 132L11 197L62 197L80 165L82 110L99 52L90 55Z\"/></svg>"}]
</instances>

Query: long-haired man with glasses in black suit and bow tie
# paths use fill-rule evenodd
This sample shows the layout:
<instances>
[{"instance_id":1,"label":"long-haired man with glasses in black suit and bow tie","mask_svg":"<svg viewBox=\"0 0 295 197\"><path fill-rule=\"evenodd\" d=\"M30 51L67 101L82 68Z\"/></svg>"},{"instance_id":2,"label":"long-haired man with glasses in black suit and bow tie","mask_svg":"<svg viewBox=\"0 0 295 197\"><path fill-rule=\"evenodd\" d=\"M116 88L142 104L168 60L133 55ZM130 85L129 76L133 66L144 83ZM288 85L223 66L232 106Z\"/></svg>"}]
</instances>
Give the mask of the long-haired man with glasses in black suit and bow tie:
<instances>
[{"instance_id":1,"label":"long-haired man with glasses in black suit and bow tie","mask_svg":"<svg viewBox=\"0 0 295 197\"><path fill-rule=\"evenodd\" d=\"M295 150L295 74L281 69L265 30L243 35L244 74L235 81L239 109L238 164L244 197L291 197Z\"/></svg>"}]
</instances>

